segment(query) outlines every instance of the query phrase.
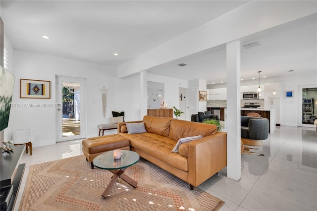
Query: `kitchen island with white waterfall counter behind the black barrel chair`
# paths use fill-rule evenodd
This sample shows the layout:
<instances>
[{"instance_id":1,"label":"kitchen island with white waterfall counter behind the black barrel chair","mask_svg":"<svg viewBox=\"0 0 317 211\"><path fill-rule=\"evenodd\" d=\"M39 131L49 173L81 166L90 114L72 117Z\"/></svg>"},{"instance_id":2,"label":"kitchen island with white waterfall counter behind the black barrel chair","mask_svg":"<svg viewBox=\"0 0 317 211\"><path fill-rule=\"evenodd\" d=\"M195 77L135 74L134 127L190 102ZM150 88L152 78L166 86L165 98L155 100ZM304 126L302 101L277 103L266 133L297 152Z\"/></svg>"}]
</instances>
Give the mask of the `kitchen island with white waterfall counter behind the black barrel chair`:
<instances>
[{"instance_id":1,"label":"kitchen island with white waterfall counter behind the black barrel chair","mask_svg":"<svg viewBox=\"0 0 317 211\"><path fill-rule=\"evenodd\" d=\"M276 129L276 120L275 120L275 109L267 109L267 108L255 108L255 107L242 107L241 108L241 116L246 116L249 112L259 113L261 117L267 118L269 121L269 133L273 133Z\"/></svg>"}]
</instances>

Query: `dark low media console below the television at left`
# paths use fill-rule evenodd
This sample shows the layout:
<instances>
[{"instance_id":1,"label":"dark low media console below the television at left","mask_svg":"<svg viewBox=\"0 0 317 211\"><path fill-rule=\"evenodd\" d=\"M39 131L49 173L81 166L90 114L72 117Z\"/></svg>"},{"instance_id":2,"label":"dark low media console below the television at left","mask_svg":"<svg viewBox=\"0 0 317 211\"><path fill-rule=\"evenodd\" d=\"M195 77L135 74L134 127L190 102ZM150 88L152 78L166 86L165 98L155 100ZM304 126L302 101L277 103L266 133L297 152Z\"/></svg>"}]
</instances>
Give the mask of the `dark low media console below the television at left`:
<instances>
[{"instance_id":1,"label":"dark low media console below the television at left","mask_svg":"<svg viewBox=\"0 0 317 211\"><path fill-rule=\"evenodd\" d=\"M25 168L25 163L18 164L25 146L17 145L12 148L12 152L4 152L1 149L0 187L13 185L13 193L6 207L6 211L13 210Z\"/></svg>"}]
</instances>

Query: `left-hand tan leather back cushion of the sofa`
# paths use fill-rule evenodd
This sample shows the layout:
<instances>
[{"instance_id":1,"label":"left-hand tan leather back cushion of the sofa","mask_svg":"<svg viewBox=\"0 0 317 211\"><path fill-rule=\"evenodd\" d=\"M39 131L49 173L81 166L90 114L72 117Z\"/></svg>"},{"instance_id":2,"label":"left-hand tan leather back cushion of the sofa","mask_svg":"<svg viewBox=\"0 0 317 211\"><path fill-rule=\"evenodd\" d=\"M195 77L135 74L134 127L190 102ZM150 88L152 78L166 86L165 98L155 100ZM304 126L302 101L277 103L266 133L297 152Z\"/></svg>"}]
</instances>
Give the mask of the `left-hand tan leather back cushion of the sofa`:
<instances>
[{"instance_id":1,"label":"left-hand tan leather back cushion of the sofa","mask_svg":"<svg viewBox=\"0 0 317 211\"><path fill-rule=\"evenodd\" d=\"M169 117L156 117L156 116L144 116L143 122L145 129L149 133L168 137L169 125L172 118ZM178 140L178 139L177 139Z\"/></svg>"}]
</instances>

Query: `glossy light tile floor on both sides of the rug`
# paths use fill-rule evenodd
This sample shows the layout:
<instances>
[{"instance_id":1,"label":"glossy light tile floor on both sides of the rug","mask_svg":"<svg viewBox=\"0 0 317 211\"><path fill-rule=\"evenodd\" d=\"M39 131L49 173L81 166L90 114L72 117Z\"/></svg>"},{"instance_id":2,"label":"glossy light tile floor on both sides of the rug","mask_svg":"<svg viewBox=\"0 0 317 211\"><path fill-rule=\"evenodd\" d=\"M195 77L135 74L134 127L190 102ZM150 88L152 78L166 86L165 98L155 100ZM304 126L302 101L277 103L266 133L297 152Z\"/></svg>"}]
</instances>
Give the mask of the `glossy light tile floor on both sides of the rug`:
<instances>
[{"instance_id":1,"label":"glossy light tile floor on both sides of the rug","mask_svg":"<svg viewBox=\"0 0 317 211\"><path fill-rule=\"evenodd\" d=\"M220 211L316 211L317 132L315 128L281 126L254 150L264 156L241 156L241 179L226 177L226 168L199 186L223 200ZM18 210L29 166L81 155L81 140L34 148L26 163L14 210Z\"/></svg>"}]
</instances>

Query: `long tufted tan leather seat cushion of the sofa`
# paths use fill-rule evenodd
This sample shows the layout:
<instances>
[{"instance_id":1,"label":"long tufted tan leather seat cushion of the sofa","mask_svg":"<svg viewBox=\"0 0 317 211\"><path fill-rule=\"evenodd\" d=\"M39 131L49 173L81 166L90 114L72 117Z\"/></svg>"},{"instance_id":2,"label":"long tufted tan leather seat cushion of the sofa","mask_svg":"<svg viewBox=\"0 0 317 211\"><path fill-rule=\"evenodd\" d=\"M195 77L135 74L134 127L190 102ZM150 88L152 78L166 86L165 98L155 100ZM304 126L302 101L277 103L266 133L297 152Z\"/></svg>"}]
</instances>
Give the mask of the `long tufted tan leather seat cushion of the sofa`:
<instances>
[{"instance_id":1,"label":"long tufted tan leather seat cushion of the sofa","mask_svg":"<svg viewBox=\"0 0 317 211\"><path fill-rule=\"evenodd\" d=\"M120 135L130 139L131 147L157 158L175 168L188 171L187 158L179 155L178 153L171 152L177 141L153 133L120 133Z\"/></svg>"}]
</instances>

